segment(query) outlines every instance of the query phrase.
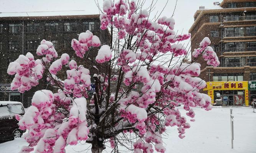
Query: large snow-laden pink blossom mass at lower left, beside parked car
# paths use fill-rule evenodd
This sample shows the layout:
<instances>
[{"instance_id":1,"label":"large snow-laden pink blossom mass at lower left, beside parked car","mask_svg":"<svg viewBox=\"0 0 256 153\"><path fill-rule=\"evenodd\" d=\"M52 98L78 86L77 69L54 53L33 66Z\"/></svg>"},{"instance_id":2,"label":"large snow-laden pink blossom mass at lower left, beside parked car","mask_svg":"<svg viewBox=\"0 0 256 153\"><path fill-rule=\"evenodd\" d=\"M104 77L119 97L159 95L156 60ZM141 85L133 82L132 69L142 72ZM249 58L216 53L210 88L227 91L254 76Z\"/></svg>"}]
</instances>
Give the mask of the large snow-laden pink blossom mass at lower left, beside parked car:
<instances>
[{"instance_id":1,"label":"large snow-laden pink blossom mass at lower left, beside parked car","mask_svg":"<svg viewBox=\"0 0 256 153\"><path fill-rule=\"evenodd\" d=\"M78 140L88 138L88 125L86 122L86 99L74 99L70 108L70 117L77 119L64 122L65 116L58 112L54 102L55 96L49 90L36 91L25 115L20 119L20 129L28 129L24 135L30 147L37 145L37 153L65 153L66 144L76 145ZM58 120L58 122L54 122ZM54 149L53 149L54 148ZM23 147L22 151L28 153L33 148Z\"/></svg>"}]
</instances>

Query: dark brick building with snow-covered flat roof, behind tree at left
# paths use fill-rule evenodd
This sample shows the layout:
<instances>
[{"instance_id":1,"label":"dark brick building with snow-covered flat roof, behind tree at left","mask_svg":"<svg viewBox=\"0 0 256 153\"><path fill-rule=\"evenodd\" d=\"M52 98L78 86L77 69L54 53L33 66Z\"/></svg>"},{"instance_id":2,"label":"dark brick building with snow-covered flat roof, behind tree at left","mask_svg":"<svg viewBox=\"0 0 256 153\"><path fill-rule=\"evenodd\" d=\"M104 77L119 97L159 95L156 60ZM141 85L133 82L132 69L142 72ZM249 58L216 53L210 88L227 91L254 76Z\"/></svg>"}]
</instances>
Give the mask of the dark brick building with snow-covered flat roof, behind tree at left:
<instances>
[{"instance_id":1,"label":"dark brick building with snow-covered flat roof, behind tree at left","mask_svg":"<svg viewBox=\"0 0 256 153\"><path fill-rule=\"evenodd\" d=\"M0 13L0 101L20 101L24 107L28 107L33 93L46 89L48 84L46 79L42 79L40 85L24 94L11 91L13 76L7 74L9 63L20 54L31 52L36 56L36 49L43 39L51 41L59 55L68 53L78 64L92 67L92 63L84 64L83 59L76 58L71 40L78 39L78 34L90 30L101 39L102 44L108 44L109 33L100 29L99 15L84 14L84 11ZM97 50L98 48L92 48L85 55L93 63ZM101 67L98 68L100 71ZM90 71L92 74L97 73L93 68Z\"/></svg>"}]
</instances>

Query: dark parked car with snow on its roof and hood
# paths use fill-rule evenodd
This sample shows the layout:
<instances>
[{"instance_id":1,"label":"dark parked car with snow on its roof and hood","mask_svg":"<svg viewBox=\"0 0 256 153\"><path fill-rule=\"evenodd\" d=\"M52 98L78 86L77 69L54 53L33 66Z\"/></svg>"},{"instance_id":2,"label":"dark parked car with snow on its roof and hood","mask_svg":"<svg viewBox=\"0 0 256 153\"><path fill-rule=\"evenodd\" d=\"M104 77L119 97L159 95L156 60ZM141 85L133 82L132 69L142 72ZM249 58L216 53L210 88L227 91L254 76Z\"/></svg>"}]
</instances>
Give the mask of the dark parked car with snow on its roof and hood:
<instances>
[{"instance_id":1,"label":"dark parked car with snow on its roof and hood","mask_svg":"<svg viewBox=\"0 0 256 153\"><path fill-rule=\"evenodd\" d=\"M25 132L19 129L15 114L24 115L24 107L16 101L0 101L0 140L14 140Z\"/></svg>"}]
</instances>

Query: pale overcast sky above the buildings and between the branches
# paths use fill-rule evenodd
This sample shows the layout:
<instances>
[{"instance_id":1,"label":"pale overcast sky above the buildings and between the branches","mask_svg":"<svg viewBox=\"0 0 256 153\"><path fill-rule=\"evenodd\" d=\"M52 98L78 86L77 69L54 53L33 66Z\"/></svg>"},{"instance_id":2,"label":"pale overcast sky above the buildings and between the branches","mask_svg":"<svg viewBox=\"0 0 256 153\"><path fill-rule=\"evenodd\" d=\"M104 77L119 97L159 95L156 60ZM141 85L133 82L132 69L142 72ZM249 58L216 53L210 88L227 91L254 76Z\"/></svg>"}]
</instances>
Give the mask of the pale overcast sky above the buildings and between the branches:
<instances>
[{"instance_id":1,"label":"pale overcast sky above the buildings and between the branches","mask_svg":"<svg viewBox=\"0 0 256 153\"><path fill-rule=\"evenodd\" d=\"M98 1L100 4L103 2L102 0ZM167 1L158 0L152 14L162 11L165 2ZM176 0L168 0L162 16L172 16L175 2ZM199 6L211 8L213 2L218 2L218 0L178 0L173 16L175 19L175 31L178 31L178 34L181 32L188 33L190 26L194 22L193 15L199 9ZM144 7L147 8L150 3L151 0L147 0ZM0 12L85 10L87 14L99 14L94 0L0 0L0 6ZM189 41L185 43L187 44Z\"/></svg>"}]
</instances>

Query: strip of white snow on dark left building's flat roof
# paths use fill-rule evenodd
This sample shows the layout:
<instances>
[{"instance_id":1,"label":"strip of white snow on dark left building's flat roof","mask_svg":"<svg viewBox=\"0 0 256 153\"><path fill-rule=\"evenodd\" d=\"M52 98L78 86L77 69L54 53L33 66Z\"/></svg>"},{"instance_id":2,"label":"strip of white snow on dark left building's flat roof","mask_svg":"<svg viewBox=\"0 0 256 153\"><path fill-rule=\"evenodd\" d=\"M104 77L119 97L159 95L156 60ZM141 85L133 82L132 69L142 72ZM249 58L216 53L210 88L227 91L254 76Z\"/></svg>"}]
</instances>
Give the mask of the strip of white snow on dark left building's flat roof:
<instances>
[{"instance_id":1,"label":"strip of white snow on dark left building's flat roof","mask_svg":"<svg viewBox=\"0 0 256 153\"><path fill-rule=\"evenodd\" d=\"M85 10L72 11L36 11L36 12L0 12L1 17L31 17L31 16L75 16L90 15Z\"/></svg>"}]
</instances>

